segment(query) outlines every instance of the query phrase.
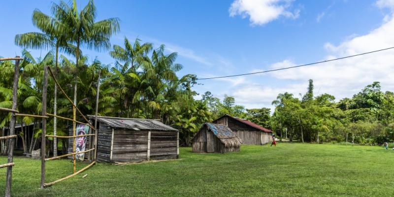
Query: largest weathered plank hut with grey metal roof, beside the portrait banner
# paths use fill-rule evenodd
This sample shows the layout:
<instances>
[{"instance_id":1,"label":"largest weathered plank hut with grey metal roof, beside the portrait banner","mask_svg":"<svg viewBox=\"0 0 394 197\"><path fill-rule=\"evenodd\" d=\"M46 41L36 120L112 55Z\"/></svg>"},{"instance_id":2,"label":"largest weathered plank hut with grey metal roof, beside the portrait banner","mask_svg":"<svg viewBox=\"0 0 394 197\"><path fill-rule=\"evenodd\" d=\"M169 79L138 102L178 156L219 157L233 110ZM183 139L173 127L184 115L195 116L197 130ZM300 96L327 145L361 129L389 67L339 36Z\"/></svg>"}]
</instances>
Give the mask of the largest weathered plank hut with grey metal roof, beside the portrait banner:
<instances>
[{"instance_id":1,"label":"largest weathered plank hut with grey metal roof, beside the portrait banner","mask_svg":"<svg viewBox=\"0 0 394 197\"><path fill-rule=\"evenodd\" d=\"M89 116L94 122L95 116ZM98 162L176 159L179 132L159 120L98 117ZM70 141L69 150L72 147Z\"/></svg>"}]
</instances>

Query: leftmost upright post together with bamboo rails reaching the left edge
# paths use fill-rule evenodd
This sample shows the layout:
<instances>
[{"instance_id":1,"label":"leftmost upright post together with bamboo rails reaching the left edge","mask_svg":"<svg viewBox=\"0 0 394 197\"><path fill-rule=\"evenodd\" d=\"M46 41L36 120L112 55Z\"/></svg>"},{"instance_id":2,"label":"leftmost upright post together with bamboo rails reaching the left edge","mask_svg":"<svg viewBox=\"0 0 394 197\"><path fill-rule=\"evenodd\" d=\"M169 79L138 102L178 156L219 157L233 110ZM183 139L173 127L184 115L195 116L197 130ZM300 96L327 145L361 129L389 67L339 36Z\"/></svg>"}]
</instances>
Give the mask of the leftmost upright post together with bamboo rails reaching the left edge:
<instances>
[{"instance_id":1,"label":"leftmost upright post together with bamboo rails reaching the left edge","mask_svg":"<svg viewBox=\"0 0 394 197\"><path fill-rule=\"evenodd\" d=\"M15 58L0 58L0 61L6 60L15 60L15 71L14 71L14 80L12 84L12 107L11 109L8 108L1 108L1 111L8 111L11 112L11 120L9 122L9 136L3 136L3 139L9 139L8 143L8 158L7 164L1 165L1 167L7 167L6 172L6 183L5 183L5 197L11 197L11 182L12 182L12 166L15 164L13 163L14 158L14 145L15 145L15 124L16 124L16 116L15 113L19 113L16 110L17 101L18 101L18 81L19 81L19 63L23 58L16 56ZM6 138L8 137L8 138Z\"/></svg>"}]
</instances>

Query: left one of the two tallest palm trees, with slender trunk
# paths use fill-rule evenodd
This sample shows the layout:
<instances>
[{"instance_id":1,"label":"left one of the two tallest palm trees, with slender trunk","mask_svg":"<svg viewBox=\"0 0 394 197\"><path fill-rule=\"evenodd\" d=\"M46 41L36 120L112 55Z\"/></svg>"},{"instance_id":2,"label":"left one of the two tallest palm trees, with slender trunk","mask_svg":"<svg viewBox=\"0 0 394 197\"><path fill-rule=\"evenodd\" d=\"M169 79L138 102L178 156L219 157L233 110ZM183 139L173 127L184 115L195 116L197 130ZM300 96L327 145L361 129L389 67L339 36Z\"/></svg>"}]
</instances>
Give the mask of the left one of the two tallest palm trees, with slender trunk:
<instances>
[{"instance_id":1,"label":"left one of the two tallest palm trees, with slender trunk","mask_svg":"<svg viewBox=\"0 0 394 197\"><path fill-rule=\"evenodd\" d=\"M56 14L54 14L56 15ZM39 32L30 32L18 34L15 36L15 44L30 49L55 49L55 72L58 71L59 51L66 54L74 54L75 46L70 43L70 28L56 17L49 16L39 9L33 11L33 25ZM54 112L57 114L57 85L54 89ZM57 134L57 120L54 117L53 122L54 135ZM54 139L54 156L57 156L57 140Z\"/></svg>"}]
</instances>

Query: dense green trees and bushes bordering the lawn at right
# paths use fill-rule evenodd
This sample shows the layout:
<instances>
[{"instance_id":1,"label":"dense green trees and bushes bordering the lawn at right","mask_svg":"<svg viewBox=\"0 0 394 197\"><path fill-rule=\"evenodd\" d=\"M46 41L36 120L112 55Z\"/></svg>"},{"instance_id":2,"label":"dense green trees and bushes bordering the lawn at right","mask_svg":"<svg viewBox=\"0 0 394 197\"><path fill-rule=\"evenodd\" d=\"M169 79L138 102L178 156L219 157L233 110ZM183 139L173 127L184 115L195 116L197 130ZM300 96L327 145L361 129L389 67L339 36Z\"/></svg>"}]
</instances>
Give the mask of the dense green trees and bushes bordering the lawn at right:
<instances>
[{"instance_id":1,"label":"dense green trees and bushes bordering the lawn at right","mask_svg":"<svg viewBox=\"0 0 394 197\"><path fill-rule=\"evenodd\" d=\"M335 102L332 95L315 97L310 80L302 100L284 93L272 104L276 106L272 128L279 136L287 131L291 140L344 141L347 135L354 134L355 142L360 144L394 141L394 96L392 92L382 92L379 82L367 85L351 99Z\"/></svg>"}]
</instances>

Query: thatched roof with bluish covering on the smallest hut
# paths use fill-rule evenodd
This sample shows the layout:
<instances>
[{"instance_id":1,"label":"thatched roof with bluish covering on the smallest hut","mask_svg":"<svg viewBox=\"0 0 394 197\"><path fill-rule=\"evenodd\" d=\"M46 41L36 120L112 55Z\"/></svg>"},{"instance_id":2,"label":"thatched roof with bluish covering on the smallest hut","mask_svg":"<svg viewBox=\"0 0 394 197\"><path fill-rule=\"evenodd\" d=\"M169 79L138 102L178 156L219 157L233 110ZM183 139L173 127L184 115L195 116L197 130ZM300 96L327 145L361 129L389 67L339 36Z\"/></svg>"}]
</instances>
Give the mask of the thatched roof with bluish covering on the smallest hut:
<instances>
[{"instance_id":1,"label":"thatched roof with bluish covering on the smallest hut","mask_svg":"<svg viewBox=\"0 0 394 197\"><path fill-rule=\"evenodd\" d=\"M226 147L241 146L241 139L225 125L205 123L202 127L210 130Z\"/></svg>"}]
</instances>

